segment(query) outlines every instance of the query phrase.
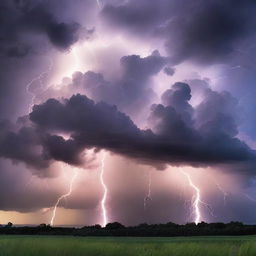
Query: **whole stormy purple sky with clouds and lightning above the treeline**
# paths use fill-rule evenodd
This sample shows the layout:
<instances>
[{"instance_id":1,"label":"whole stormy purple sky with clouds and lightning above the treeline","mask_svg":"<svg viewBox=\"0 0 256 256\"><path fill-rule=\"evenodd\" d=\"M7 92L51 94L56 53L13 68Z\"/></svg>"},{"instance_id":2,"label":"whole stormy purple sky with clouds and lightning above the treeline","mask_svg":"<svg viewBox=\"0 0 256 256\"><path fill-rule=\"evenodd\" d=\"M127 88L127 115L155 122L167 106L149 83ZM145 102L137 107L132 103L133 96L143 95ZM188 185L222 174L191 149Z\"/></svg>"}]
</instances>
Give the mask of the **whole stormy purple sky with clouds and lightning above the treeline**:
<instances>
[{"instance_id":1,"label":"whole stormy purple sky with clouds and lightning above the treeline","mask_svg":"<svg viewBox=\"0 0 256 256\"><path fill-rule=\"evenodd\" d=\"M2 0L0 223L256 223L253 0Z\"/></svg>"}]
</instances>

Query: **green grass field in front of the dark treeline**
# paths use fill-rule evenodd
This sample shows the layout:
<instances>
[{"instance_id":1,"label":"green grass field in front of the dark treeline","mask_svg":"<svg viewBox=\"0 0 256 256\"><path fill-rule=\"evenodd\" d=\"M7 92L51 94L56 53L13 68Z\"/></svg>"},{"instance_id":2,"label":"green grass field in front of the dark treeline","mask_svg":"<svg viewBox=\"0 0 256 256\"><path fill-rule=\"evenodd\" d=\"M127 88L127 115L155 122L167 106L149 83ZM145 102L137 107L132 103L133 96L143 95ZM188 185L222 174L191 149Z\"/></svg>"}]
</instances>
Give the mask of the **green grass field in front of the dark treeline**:
<instances>
[{"instance_id":1,"label":"green grass field in front of the dark treeline","mask_svg":"<svg viewBox=\"0 0 256 256\"><path fill-rule=\"evenodd\" d=\"M256 256L256 236L83 238L0 236L0 256Z\"/></svg>"}]
</instances>

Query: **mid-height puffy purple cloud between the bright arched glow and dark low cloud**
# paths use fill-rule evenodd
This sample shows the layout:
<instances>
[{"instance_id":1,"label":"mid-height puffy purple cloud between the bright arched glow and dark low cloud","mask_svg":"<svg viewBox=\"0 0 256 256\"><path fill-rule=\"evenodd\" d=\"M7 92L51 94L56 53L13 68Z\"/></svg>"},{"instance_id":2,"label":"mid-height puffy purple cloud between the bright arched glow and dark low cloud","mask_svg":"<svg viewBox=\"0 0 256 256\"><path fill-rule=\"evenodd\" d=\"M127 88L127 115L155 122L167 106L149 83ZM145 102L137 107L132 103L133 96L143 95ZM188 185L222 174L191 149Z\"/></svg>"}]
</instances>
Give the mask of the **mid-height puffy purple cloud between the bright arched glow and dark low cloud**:
<instances>
[{"instance_id":1,"label":"mid-height puffy purple cloud between the bright arched glow and dark low cloud","mask_svg":"<svg viewBox=\"0 0 256 256\"><path fill-rule=\"evenodd\" d=\"M51 96L61 98L77 93L86 94L95 102L104 101L116 105L120 111L140 122L150 105L157 99L152 80L168 61L169 59L161 56L157 50L146 57L123 56L120 59L118 74L113 79L107 80L104 73L95 71L75 72L72 80L61 86L61 89L49 87L38 93L36 100L40 103Z\"/></svg>"}]
</instances>

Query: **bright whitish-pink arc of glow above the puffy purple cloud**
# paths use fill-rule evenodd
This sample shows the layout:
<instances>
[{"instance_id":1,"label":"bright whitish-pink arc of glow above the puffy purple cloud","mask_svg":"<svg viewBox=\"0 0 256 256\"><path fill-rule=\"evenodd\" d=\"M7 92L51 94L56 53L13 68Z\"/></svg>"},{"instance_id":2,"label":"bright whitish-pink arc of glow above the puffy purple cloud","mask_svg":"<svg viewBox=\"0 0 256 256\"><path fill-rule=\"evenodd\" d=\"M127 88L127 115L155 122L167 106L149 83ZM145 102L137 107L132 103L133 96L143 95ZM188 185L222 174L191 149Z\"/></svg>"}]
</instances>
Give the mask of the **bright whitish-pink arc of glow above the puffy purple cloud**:
<instances>
[{"instance_id":1,"label":"bright whitish-pink arc of glow above the puffy purple cloud","mask_svg":"<svg viewBox=\"0 0 256 256\"><path fill-rule=\"evenodd\" d=\"M72 74L76 71L84 73L93 70L97 72L102 62L106 62L102 59L102 56L112 49L115 49L116 54L120 53L116 60L117 63L119 63L119 58L124 55L138 54L141 57L146 57L155 50L154 47L145 46L133 40L129 41L120 35L111 38L107 35L100 38L96 36L92 40L75 44L69 52L57 57L55 62L56 72L53 74L50 84L59 84L63 77L72 77ZM106 71L109 69L109 67L105 68Z\"/></svg>"}]
</instances>

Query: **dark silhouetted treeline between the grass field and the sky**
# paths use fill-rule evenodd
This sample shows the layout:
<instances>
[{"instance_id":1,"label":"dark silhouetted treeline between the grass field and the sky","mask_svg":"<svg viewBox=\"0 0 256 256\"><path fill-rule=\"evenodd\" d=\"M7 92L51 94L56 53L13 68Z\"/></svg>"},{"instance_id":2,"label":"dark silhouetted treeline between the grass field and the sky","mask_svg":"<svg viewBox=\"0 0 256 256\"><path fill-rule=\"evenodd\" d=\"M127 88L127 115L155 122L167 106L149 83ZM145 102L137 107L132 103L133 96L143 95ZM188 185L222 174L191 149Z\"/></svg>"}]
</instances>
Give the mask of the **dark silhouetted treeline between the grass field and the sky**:
<instances>
[{"instance_id":1,"label":"dark silhouetted treeline between the grass field and the sky","mask_svg":"<svg viewBox=\"0 0 256 256\"><path fill-rule=\"evenodd\" d=\"M52 227L41 224L37 227L17 227L8 223L0 226L0 234L12 235L73 235L73 236L215 236L215 235L255 235L256 225L244 225L241 222L230 223L187 223L178 225L172 222L166 224L140 224L125 227L113 222L101 227L100 225L82 228Z\"/></svg>"}]
</instances>

